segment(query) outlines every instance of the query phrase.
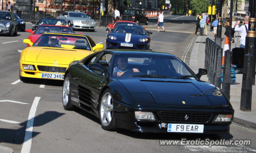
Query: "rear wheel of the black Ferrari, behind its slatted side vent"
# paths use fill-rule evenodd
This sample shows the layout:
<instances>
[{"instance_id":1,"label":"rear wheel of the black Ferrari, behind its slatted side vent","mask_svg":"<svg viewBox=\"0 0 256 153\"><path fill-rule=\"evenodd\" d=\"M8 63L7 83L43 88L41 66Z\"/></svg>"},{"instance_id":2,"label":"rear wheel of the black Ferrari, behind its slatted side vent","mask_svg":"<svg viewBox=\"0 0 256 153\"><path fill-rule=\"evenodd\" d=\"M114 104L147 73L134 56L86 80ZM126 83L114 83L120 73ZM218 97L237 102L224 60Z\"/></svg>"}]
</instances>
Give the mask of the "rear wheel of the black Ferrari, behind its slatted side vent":
<instances>
[{"instance_id":1,"label":"rear wheel of the black Ferrari, behind its slatted side vent","mask_svg":"<svg viewBox=\"0 0 256 153\"><path fill-rule=\"evenodd\" d=\"M70 98L70 74L67 74L62 89L62 104L65 110L72 111L74 110L74 106L71 104Z\"/></svg>"}]
</instances>

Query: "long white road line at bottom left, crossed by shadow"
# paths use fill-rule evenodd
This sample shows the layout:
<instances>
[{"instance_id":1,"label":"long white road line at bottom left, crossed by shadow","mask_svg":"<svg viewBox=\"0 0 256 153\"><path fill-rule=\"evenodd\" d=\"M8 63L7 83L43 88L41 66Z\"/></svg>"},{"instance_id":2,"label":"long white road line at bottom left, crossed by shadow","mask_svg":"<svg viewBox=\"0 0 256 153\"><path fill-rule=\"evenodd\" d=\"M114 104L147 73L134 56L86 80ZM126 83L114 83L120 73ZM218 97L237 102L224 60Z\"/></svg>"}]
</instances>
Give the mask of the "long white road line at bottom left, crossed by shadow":
<instances>
[{"instance_id":1,"label":"long white road line at bottom left, crossed by shadow","mask_svg":"<svg viewBox=\"0 0 256 153\"><path fill-rule=\"evenodd\" d=\"M22 149L20 153L29 153L32 144L32 132L33 132L33 125L34 125L34 117L36 115L36 107L39 103L41 97L35 97L31 109L28 115L27 127L24 137L24 142L22 145Z\"/></svg>"}]
</instances>

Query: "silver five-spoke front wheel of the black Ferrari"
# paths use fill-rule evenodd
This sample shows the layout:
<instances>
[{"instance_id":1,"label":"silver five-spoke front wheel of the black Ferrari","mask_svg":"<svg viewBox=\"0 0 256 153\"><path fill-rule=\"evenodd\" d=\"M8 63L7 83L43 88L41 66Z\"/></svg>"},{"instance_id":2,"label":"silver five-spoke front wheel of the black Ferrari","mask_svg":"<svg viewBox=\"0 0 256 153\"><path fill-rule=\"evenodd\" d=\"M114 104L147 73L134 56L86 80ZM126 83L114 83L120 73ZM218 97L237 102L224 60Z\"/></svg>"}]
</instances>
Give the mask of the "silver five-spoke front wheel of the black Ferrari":
<instances>
[{"instance_id":1,"label":"silver five-spoke front wheel of the black Ferrari","mask_svg":"<svg viewBox=\"0 0 256 153\"><path fill-rule=\"evenodd\" d=\"M106 89L102 94L99 105L99 116L102 129L107 131L116 130L116 121L114 117L114 105L110 89Z\"/></svg>"}]
</instances>

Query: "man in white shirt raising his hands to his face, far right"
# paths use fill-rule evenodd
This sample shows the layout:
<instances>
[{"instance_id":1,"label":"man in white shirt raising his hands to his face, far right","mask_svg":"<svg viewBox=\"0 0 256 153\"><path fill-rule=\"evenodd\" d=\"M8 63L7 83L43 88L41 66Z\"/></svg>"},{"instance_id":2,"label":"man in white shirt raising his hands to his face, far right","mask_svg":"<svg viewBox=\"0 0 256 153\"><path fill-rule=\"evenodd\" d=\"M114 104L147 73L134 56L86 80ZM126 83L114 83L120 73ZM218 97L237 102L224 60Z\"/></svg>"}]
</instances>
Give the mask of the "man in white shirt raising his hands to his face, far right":
<instances>
[{"instance_id":1,"label":"man in white shirt raising his hands to his face, far right","mask_svg":"<svg viewBox=\"0 0 256 153\"><path fill-rule=\"evenodd\" d=\"M248 30L248 23L249 23L249 16L244 17L244 25L239 27L240 20L238 20L236 23L235 32L241 32L240 48L245 48L245 38Z\"/></svg>"}]
</instances>

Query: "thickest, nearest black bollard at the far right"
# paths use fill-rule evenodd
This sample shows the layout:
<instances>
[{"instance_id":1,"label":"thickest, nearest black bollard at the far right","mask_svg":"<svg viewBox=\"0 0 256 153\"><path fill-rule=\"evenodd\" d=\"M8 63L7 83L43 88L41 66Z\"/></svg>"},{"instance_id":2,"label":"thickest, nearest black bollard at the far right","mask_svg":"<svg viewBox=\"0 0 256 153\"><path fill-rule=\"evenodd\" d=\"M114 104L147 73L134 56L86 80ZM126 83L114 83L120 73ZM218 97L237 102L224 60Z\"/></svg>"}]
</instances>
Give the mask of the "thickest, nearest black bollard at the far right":
<instances>
[{"instance_id":1,"label":"thickest, nearest black bollard at the far right","mask_svg":"<svg viewBox=\"0 0 256 153\"><path fill-rule=\"evenodd\" d=\"M244 56L243 81L241 91L240 110L251 111L252 109L252 75L253 56L248 53Z\"/></svg>"}]
</instances>

